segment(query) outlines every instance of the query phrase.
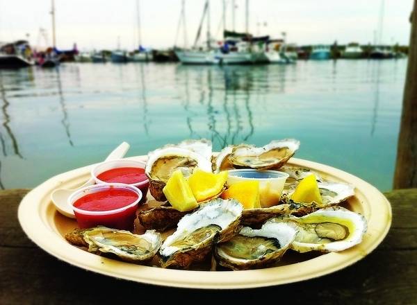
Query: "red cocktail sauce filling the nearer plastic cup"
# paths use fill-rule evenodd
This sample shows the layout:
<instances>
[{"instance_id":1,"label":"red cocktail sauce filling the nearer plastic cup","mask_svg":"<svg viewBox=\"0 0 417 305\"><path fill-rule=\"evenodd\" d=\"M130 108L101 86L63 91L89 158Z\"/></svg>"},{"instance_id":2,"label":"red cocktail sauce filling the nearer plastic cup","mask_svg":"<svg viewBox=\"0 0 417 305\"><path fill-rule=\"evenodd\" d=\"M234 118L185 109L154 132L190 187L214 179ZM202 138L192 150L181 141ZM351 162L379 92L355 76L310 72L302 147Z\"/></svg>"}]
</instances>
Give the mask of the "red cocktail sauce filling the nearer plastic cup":
<instances>
[{"instance_id":1,"label":"red cocktail sauce filling the nearer plastic cup","mask_svg":"<svg viewBox=\"0 0 417 305\"><path fill-rule=\"evenodd\" d=\"M111 186L109 189L89 193L76 200L73 205L81 211L74 210L74 214L81 228L104 225L113 229L132 230L138 204L134 204L132 207L127 206L133 204L138 198L139 195L134 191ZM127 208L111 212L123 207ZM110 212L103 215L94 214L97 211ZM89 212L93 212L93 214L89 214Z\"/></svg>"}]
</instances>

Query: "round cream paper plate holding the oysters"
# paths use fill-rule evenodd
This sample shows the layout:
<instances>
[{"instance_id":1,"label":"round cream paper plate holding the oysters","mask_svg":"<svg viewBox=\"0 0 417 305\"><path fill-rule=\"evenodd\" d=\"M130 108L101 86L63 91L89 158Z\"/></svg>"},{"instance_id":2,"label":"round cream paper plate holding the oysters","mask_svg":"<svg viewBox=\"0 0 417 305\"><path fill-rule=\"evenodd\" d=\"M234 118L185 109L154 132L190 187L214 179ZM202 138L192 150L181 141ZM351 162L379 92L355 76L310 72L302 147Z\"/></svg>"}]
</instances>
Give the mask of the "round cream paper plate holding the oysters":
<instances>
[{"instance_id":1,"label":"round cream paper plate holding the oysters","mask_svg":"<svg viewBox=\"0 0 417 305\"><path fill-rule=\"evenodd\" d=\"M130 159L144 161L146 157ZM348 200L349 209L363 214L368 221L368 231L359 245L342 252L321 255L287 252L281 265L277 267L244 271L170 270L108 259L88 253L65 241L63 236L76 227L76 222L61 216L49 199L54 189L73 189L88 180L90 166L52 177L33 189L19 205L19 222L34 243L67 263L111 277L184 288L254 288L304 281L352 265L382 242L391 225L391 206L374 186L354 175L323 164L295 158L288 164L311 168L328 180L347 182L355 186L355 197Z\"/></svg>"}]
</instances>

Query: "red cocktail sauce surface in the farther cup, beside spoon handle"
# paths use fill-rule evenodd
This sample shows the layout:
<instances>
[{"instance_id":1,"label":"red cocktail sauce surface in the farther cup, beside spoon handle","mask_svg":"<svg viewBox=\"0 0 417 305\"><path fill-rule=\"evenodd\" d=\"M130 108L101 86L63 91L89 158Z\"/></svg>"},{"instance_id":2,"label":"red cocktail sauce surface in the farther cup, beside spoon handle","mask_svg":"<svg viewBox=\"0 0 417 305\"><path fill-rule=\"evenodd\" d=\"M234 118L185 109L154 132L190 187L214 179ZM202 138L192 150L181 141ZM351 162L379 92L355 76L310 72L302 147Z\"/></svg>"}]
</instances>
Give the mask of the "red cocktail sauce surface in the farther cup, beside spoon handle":
<instances>
[{"instance_id":1,"label":"red cocktail sauce surface in the farther cup, beside spoon handle","mask_svg":"<svg viewBox=\"0 0 417 305\"><path fill-rule=\"evenodd\" d=\"M112 168L97 175L97 178L104 182L117 182L125 184L135 184L147 180L145 168L138 167Z\"/></svg>"}]
</instances>

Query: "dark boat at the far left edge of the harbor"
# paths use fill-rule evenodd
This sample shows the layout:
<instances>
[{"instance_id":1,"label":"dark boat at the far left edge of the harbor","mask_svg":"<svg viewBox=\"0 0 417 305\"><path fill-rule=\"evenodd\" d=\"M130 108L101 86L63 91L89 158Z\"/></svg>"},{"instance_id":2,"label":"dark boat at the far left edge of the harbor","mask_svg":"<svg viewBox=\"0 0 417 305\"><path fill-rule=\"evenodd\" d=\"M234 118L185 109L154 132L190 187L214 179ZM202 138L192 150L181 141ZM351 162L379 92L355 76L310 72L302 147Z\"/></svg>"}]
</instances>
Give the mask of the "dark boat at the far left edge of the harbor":
<instances>
[{"instance_id":1,"label":"dark boat at the far left edge of the harbor","mask_svg":"<svg viewBox=\"0 0 417 305\"><path fill-rule=\"evenodd\" d=\"M0 69L19 69L33 64L31 46L26 40L0 46Z\"/></svg>"}]
</instances>

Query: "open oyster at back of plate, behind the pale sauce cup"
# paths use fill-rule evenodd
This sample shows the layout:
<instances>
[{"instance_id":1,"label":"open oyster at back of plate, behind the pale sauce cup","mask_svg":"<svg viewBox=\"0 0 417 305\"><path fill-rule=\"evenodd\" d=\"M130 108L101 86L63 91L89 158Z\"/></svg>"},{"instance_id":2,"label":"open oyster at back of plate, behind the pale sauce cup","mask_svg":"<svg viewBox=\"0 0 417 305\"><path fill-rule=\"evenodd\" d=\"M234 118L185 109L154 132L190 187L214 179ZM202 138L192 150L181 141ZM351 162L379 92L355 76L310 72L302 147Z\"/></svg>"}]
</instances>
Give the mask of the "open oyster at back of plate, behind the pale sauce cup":
<instances>
[{"instance_id":1,"label":"open oyster at back of plate, behind the pale sauce cup","mask_svg":"<svg viewBox=\"0 0 417 305\"><path fill-rule=\"evenodd\" d=\"M229 161L237 168L280 168L298 148L300 141L295 139L274 140L260 148L237 146L229 155Z\"/></svg>"}]
</instances>

